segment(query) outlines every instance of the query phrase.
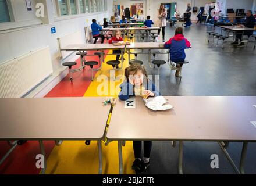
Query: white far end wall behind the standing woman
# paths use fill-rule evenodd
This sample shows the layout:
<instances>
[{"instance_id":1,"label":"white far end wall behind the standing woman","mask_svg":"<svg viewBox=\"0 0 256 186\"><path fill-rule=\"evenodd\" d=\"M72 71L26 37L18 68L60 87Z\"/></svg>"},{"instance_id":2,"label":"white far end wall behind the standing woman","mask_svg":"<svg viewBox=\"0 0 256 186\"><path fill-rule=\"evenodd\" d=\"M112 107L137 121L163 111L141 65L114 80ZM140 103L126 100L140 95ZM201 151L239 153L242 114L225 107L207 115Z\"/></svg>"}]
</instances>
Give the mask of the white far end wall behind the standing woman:
<instances>
[{"instance_id":1,"label":"white far end wall behind the standing woman","mask_svg":"<svg viewBox=\"0 0 256 186\"><path fill-rule=\"evenodd\" d=\"M201 6L205 6L205 3L214 2L212 0L144 0L144 1L131 1L131 0L114 0L115 5L124 5L130 8L130 5L133 3L144 3L144 17L150 15L153 21L157 21L158 9L161 3L177 3L177 12L180 12L182 15L186 12L187 3L191 4L191 7L197 6L198 10ZM197 20L197 13L192 13L191 20Z\"/></svg>"}]
</instances>

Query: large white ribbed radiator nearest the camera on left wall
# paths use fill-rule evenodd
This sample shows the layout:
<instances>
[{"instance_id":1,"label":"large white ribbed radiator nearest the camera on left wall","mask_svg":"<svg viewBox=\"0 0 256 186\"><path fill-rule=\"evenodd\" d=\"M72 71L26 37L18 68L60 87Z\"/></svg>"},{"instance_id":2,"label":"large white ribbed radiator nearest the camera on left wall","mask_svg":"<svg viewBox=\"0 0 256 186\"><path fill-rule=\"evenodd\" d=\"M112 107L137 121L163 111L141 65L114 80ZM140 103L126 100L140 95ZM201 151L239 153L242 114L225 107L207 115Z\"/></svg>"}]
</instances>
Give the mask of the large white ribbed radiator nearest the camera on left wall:
<instances>
[{"instance_id":1,"label":"large white ribbed radiator nearest the camera on left wall","mask_svg":"<svg viewBox=\"0 0 256 186\"><path fill-rule=\"evenodd\" d=\"M0 65L0 98L20 98L53 72L49 47Z\"/></svg>"}]
</instances>

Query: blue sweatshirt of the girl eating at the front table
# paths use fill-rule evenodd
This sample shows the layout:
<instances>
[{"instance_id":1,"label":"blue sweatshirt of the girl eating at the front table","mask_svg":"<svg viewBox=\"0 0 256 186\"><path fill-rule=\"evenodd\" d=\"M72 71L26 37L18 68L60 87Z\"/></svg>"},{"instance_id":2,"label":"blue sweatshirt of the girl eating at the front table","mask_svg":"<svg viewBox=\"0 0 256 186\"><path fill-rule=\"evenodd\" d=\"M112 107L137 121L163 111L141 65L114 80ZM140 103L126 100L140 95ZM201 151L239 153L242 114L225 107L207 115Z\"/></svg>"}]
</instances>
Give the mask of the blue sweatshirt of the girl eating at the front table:
<instances>
[{"instance_id":1,"label":"blue sweatshirt of the girl eating at the front table","mask_svg":"<svg viewBox=\"0 0 256 186\"><path fill-rule=\"evenodd\" d=\"M146 88L147 90L150 90L151 92L153 92L155 94L155 97L161 95L160 92L155 87L155 84L151 80L147 81L147 85L145 87L147 87ZM129 81L124 81L120 85L120 88L121 88L121 91L118 95L119 99L125 101L129 99L129 96L135 96L133 91L133 85L129 83Z\"/></svg>"}]
</instances>

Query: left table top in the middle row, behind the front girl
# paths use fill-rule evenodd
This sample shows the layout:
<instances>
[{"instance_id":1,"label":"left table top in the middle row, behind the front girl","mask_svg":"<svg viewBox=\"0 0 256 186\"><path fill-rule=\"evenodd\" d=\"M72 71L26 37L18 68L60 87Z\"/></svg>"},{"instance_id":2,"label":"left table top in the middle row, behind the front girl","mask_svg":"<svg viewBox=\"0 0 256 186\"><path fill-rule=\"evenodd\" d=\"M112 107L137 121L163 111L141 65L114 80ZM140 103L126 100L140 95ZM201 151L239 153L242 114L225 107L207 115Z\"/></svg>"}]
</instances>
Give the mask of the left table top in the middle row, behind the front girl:
<instances>
[{"instance_id":1,"label":"left table top in the middle row, behind the front girl","mask_svg":"<svg viewBox=\"0 0 256 186\"><path fill-rule=\"evenodd\" d=\"M79 44L79 45L67 45L62 48L61 51L89 51L89 50L104 50L104 49L123 49L125 46L113 44Z\"/></svg>"}]
</instances>

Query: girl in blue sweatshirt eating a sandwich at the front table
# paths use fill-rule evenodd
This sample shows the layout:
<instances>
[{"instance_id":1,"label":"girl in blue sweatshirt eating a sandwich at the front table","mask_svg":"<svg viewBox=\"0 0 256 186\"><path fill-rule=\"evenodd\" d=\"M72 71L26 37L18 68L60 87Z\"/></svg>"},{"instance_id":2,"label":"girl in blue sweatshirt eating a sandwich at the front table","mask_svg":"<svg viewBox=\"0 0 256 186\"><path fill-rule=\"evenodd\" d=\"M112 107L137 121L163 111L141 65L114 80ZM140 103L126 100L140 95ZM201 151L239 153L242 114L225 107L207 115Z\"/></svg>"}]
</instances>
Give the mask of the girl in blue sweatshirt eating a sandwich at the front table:
<instances>
[{"instance_id":1,"label":"girl in blue sweatshirt eating a sandwich at the front table","mask_svg":"<svg viewBox=\"0 0 256 186\"><path fill-rule=\"evenodd\" d=\"M143 98L147 98L148 96L155 97L160 95L155 84L151 80L148 80L147 71L144 66L139 64L130 65L125 69L125 77L125 81L120 85L119 99L125 101L130 96L140 95ZM136 94L136 89L142 90L140 94ZM136 174L144 173L148 166L150 166L152 141L143 141L143 159L141 159L141 145L142 141L133 141L135 160L131 169L135 170Z\"/></svg>"}]
</instances>

